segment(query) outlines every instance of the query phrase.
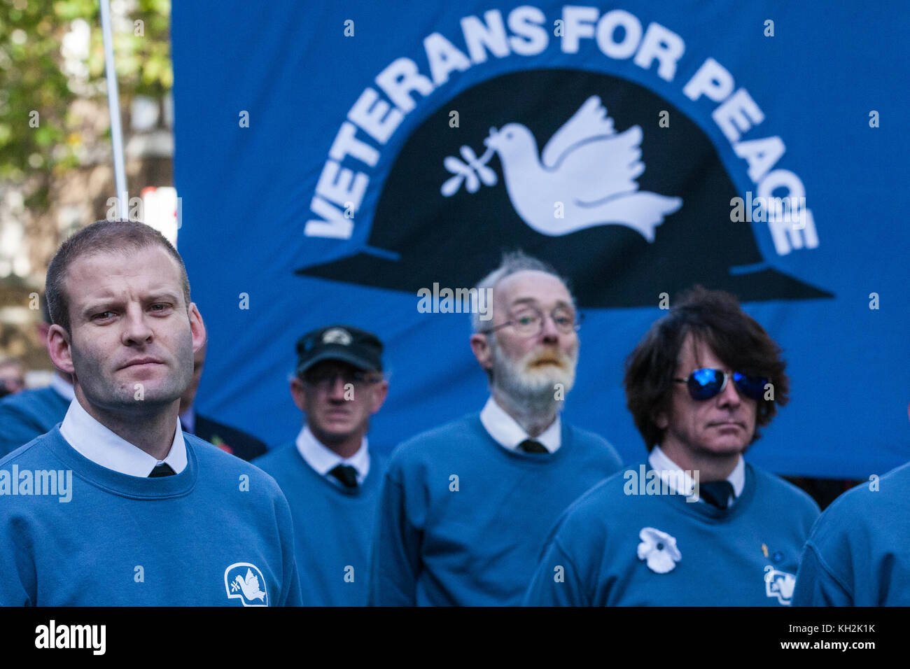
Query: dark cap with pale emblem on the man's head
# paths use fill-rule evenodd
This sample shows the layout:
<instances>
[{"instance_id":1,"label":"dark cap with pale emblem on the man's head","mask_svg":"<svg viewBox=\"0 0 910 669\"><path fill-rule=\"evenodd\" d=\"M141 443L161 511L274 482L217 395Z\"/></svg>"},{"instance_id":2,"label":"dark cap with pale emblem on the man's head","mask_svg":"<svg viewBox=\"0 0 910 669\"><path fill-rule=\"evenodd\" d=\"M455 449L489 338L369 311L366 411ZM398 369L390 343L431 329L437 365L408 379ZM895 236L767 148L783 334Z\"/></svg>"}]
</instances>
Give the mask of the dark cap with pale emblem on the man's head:
<instances>
[{"instance_id":1,"label":"dark cap with pale emblem on the man's head","mask_svg":"<svg viewBox=\"0 0 910 669\"><path fill-rule=\"evenodd\" d=\"M359 370L382 370L382 342L372 332L349 325L314 329L297 340L297 374L322 360L341 360Z\"/></svg>"}]
</instances>

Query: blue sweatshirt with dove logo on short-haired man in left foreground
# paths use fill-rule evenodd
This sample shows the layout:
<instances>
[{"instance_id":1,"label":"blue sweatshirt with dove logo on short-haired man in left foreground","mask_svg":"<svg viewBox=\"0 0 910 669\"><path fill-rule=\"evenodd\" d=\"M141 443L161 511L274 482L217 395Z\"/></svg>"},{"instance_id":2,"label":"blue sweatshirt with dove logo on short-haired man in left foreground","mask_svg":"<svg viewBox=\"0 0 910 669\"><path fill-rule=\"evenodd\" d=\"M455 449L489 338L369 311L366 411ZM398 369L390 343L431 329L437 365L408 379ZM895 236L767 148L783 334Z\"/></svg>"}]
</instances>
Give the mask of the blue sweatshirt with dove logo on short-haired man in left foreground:
<instances>
[{"instance_id":1,"label":"blue sweatshirt with dove logo on short-haired man in left foreground","mask_svg":"<svg viewBox=\"0 0 910 669\"><path fill-rule=\"evenodd\" d=\"M155 479L86 459L59 428L0 460L0 606L299 604L278 485L183 437L186 469Z\"/></svg>"}]
</instances>

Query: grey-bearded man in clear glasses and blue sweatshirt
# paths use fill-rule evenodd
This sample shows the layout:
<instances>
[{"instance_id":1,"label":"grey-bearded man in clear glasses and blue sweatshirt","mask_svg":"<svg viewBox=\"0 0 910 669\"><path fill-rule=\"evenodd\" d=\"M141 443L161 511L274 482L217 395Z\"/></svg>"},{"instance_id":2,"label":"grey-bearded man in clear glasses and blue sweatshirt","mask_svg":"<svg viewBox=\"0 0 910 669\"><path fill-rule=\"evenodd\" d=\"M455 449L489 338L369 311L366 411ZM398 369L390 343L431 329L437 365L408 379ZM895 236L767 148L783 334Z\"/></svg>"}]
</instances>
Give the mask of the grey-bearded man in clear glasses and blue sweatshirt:
<instances>
[{"instance_id":1,"label":"grey-bearded man in clear glasses and blue sweatshirt","mask_svg":"<svg viewBox=\"0 0 910 669\"><path fill-rule=\"evenodd\" d=\"M477 286L470 348L487 374L480 413L392 453L379 501L369 603L515 605L561 512L621 467L601 437L561 421L578 316L550 266L506 254Z\"/></svg>"}]
</instances>

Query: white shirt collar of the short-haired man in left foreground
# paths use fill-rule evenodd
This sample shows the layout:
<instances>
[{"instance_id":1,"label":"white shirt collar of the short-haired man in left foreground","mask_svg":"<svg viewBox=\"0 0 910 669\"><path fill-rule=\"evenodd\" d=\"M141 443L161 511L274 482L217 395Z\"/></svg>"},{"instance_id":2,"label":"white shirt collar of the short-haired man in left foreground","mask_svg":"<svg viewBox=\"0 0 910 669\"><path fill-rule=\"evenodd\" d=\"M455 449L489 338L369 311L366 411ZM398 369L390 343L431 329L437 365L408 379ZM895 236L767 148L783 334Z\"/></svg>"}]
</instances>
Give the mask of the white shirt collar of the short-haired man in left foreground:
<instances>
[{"instance_id":1,"label":"white shirt collar of the short-haired man in left foreground","mask_svg":"<svg viewBox=\"0 0 910 669\"><path fill-rule=\"evenodd\" d=\"M80 455L121 474L145 478L158 463L146 451L92 418L79 400L74 399L69 403L69 409L60 425L60 434ZM174 431L174 441L163 462L167 462L177 474L186 469L187 445L183 441L182 431Z\"/></svg>"}]
</instances>

